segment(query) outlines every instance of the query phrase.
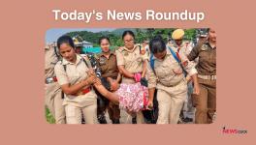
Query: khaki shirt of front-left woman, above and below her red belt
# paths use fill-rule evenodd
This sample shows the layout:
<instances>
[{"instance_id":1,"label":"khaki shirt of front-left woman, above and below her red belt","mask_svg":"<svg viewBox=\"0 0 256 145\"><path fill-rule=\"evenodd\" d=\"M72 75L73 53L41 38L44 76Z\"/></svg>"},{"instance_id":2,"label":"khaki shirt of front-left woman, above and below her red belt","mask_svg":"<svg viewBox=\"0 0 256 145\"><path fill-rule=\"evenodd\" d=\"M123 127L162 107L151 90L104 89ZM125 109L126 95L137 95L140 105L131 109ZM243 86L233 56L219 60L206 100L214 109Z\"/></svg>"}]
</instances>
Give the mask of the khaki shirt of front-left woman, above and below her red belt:
<instances>
[{"instance_id":1,"label":"khaki shirt of front-left woman, above and below her red belt","mask_svg":"<svg viewBox=\"0 0 256 145\"><path fill-rule=\"evenodd\" d=\"M89 69L82 59L88 60L88 58L83 58L77 54L77 61L75 64L68 62L65 59L56 64L54 71L60 86L64 84L74 85L88 77L87 72ZM64 70L63 65L66 65L66 71ZM65 95L63 105L73 104L75 106L83 107L95 103L97 103L97 96L95 92L91 90L89 93L80 96Z\"/></svg>"}]
</instances>

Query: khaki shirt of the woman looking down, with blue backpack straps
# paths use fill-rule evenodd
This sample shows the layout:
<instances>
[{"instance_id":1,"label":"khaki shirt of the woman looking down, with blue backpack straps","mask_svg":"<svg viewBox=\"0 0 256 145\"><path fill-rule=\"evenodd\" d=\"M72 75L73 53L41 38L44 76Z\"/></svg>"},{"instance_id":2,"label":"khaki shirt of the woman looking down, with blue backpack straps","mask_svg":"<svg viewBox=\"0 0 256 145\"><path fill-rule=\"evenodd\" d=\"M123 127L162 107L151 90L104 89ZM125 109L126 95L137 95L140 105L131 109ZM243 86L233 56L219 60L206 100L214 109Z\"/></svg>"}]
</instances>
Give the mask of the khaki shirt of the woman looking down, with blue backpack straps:
<instances>
[{"instance_id":1,"label":"khaki shirt of the woman looking down, with blue backpack straps","mask_svg":"<svg viewBox=\"0 0 256 145\"><path fill-rule=\"evenodd\" d=\"M173 48L176 52L176 50ZM181 59L181 64L183 64L184 70L188 75L193 75L197 73L196 69L193 67L193 64L187 59L183 53L179 53ZM177 63L175 57L167 48L167 54L164 60L159 60L153 56L154 59L154 71L152 71L150 63L147 65L147 79L148 79L148 88L156 87L159 89L161 85L166 87L172 87L177 85L182 79L184 79L184 74L176 74L174 70L182 70L179 64Z\"/></svg>"}]
</instances>

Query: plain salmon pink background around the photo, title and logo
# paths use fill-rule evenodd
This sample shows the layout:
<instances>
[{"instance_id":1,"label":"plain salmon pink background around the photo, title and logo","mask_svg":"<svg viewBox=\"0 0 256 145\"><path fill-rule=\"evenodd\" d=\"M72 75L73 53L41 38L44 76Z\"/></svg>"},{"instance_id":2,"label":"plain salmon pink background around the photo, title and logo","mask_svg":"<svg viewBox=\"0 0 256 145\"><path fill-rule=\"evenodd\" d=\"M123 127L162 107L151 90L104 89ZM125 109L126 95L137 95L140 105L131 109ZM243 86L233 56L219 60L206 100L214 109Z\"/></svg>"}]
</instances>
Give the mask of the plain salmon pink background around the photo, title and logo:
<instances>
[{"instance_id":1,"label":"plain salmon pink background around the photo, title and logo","mask_svg":"<svg viewBox=\"0 0 256 145\"><path fill-rule=\"evenodd\" d=\"M255 142L255 4L251 0L2 1L0 144L249 144ZM55 21L51 10L205 12L194 21ZM44 46L50 28L198 28L217 32L217 120L211 125L49 125ZM226 129L247 134L223 134Z\"/></svg>"}]
</instances>

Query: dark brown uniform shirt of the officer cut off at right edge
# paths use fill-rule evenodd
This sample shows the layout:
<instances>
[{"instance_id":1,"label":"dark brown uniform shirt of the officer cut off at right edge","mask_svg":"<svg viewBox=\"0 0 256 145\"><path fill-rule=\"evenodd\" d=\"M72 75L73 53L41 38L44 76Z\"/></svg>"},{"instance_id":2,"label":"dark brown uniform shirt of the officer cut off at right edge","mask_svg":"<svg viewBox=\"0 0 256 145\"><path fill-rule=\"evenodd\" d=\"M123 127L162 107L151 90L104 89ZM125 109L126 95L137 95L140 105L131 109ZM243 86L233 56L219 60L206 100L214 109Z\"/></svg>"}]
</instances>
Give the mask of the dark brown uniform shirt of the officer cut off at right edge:
<instances>
[{"instance_id":1,"label":"dark brown uniform shirt of the officer cut off at right edge","mask_svg":"<svg viewBox=\"0 0 256 145\"><path fill-rule=\"evenodd\" d=\"M199 57L197 71L201 75L216 75L216 47L208 42L197 44L188 55L189 60Z\"/></svg>"}]
</instances>

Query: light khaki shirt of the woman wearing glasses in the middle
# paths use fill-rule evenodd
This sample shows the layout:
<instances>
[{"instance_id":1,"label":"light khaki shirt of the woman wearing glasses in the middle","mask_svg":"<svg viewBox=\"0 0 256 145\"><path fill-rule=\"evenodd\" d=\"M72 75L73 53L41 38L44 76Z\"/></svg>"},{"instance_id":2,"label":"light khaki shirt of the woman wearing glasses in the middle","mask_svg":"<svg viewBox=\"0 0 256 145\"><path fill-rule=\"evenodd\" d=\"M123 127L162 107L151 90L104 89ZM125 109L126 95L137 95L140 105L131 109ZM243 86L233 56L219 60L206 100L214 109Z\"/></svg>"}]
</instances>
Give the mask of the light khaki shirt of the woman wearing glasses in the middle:
<instances>
[{"instance_id":1,"label":"light khaki shirt of the woman wearing glasses in the middle","mask_svg":"<svg viewBox=\"0 0 256 145\"><path fill-rule=\"evenodd\" d=\"M124 69L130 73L142 73L143 62L148 58L144 57L140 52L140 46L135 45L132 50L126 47L120 47L115 51L117 66L124 66ZM122 78L123 83L134 83L135 81L131 78Z\"/></svg>"}]
</instances>

